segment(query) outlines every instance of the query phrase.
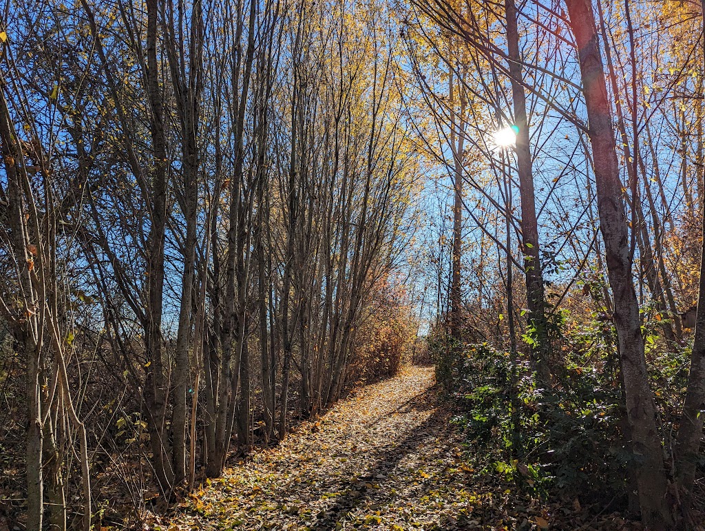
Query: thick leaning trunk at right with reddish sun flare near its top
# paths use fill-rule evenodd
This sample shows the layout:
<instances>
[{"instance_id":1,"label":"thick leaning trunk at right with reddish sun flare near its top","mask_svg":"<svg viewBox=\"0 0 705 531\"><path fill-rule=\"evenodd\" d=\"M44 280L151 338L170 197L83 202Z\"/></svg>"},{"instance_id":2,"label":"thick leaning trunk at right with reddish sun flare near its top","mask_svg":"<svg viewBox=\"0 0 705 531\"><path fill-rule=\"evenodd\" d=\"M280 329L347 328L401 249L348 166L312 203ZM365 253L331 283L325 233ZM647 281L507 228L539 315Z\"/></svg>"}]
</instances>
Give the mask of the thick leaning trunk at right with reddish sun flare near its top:
<instances>
[{"instance_id":1,"label":"thick leaning trunk at right with reddish sun flare near its top","mask_svg":"<svg viewBox=\"0 0 705 531\"><path fill-rule=\"evenodd\" d=\"M654 530L669 529L673 527L673 516L666 503L666 470L646 374L639 304L632 283L623 184L594 12L590 0L566 0L565 3L577 44L589 119L600 230L614 294L614 322L622 358L627 414L638 456L633 466L637 471L639 506L647 526Z\"/></svg>"}]
</instances>

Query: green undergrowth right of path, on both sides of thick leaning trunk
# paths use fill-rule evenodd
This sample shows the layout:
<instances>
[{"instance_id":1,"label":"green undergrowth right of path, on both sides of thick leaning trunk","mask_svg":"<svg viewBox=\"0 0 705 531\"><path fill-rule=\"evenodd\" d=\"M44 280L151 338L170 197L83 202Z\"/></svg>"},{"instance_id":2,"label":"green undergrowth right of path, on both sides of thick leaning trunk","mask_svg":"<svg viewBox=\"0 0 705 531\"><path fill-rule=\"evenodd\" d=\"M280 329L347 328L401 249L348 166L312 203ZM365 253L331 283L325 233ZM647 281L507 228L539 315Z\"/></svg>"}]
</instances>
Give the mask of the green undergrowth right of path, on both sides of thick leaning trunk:
<instances>
[{"instance_id":1,"label":"green undergrowth right of path, on both sides of thick leaning trunk","mask_svg":"<svg viewBox=\"0 0 705 531\"><path fill-rule=\"evenodd\" d=\"M526 341L512 355L484 341L460 345L437 326L429 350L474 468L544 499L580 499L629 512L635 500L628 472L635 456L625 435L615 332L600 317L577 322L561 313L551 331L548 389L537 388ZM689 352L666 349L649 326L643 333L668 460Z\"/></svg>"}]
</instances>

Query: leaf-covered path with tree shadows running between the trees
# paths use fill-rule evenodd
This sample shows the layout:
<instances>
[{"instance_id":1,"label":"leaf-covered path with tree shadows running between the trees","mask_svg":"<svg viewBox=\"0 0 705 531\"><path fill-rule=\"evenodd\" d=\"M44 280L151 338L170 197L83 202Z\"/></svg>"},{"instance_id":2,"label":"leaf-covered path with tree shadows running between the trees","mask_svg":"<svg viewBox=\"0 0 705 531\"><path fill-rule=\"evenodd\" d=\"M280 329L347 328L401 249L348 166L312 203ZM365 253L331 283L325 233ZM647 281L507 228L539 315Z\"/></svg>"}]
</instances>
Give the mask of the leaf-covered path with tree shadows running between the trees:
<instances>
[{"instance_id":1,"label":"leaf-covered path with tree shadows running between the trees","mask_svg":"<svg viewBox=\"0 0 705 531\"><path fill-rule=\"evenodd\" d=\"M433 369L407 367L204 484L153 528L639 529L584 511L577 500L547 503L475 472L451 417Z\"/></svg>"}]
</instances>

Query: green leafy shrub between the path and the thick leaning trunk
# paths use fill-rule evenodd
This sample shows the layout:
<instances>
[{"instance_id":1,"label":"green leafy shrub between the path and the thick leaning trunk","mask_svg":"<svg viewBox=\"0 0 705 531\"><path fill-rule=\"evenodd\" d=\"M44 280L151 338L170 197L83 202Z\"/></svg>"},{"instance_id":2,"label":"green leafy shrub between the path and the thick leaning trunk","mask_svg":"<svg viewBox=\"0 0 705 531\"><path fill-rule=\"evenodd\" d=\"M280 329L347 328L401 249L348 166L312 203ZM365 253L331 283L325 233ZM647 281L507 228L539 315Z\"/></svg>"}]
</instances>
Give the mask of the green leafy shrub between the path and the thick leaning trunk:
<instances>
[{"instance_id":1,"label":"green leafy shrub between the path and the thick leaning trunk","mask_svg":"<svg viewBox=\"0 0 705 531\"><path fill-rule=\"evenodd\" d=\"M562 363L552 389L537 389L526 356L513 362L507 351L477 343L458 360L442 350L448 339L435 337L437 377L459 406L454 421L481 470L537 493L625 500L630 453L611 325L595 319L556 334L553 356Z\"/></svg>"}]
</instances>

